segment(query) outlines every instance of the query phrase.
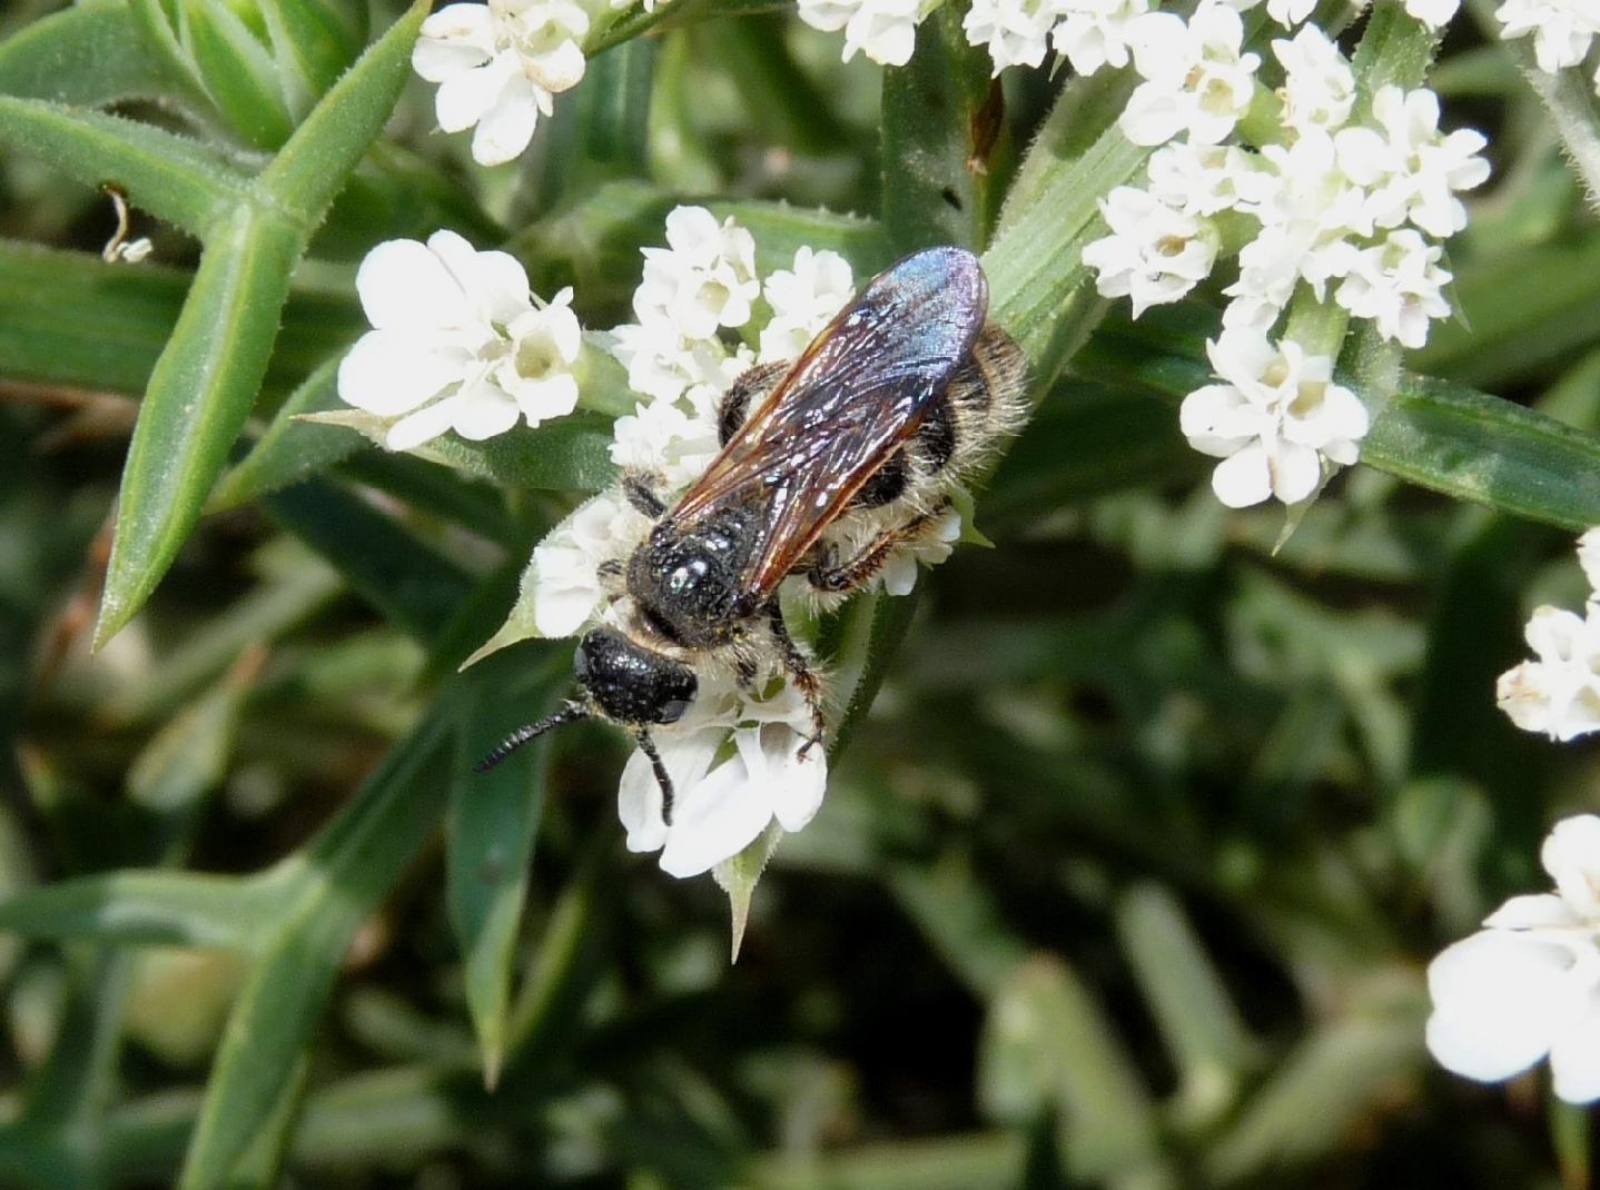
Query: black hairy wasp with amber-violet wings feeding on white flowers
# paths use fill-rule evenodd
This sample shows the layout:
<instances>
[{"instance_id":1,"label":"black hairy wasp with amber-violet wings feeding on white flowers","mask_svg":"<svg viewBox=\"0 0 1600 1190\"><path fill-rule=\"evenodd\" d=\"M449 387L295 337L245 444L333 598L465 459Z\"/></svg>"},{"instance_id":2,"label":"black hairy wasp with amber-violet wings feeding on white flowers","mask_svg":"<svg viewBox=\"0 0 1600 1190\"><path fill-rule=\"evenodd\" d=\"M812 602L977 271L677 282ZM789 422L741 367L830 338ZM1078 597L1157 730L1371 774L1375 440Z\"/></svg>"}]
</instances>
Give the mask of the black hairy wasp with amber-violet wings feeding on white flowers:
<instances>
[{"instance_id":1,"label":"black hairy wasp with amber-violet wings feeding on white flowers","mask_svg":"<svg viewBox=\"0 0 1600 1190\"><path fill-rule=\"evenodd\" d=\"M720 453L675 502L646 473L622 494L648 536L602 566L608 622L573 659L579 697L518 728L480 769L552 728L626 728L661 785L651 728L678 721L706 667L746 688L781 672L822 739L822 680L789 633L778 589L798 576L822 605L866 585L923 539L950 496L1026 417L1021 350L987 321L989 283L962 248L914 253L870 283L798 360L744 373L718 409Z\"/></svg>"}]
</instances>

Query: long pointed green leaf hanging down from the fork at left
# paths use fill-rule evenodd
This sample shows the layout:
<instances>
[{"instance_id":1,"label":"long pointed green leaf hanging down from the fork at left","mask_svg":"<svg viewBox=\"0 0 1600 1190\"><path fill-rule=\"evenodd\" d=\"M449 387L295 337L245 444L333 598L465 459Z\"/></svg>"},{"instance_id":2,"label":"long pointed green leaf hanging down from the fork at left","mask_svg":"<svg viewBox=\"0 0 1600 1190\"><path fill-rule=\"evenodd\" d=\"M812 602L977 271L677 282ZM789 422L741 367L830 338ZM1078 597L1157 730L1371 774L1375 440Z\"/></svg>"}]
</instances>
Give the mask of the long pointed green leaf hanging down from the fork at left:
<instances>
[{"instance_id":1,"label":"long pointed green leaf hanging down from the fork at left","mask_svg":"<svg viewBox=\"0 0 1600 1190\"><path fill-rule=\"evenodd\" d=\"M267 369L301 242L250 205L211 237L128 446L96 646L178 557Z\"/></svg>"}]
</instances>

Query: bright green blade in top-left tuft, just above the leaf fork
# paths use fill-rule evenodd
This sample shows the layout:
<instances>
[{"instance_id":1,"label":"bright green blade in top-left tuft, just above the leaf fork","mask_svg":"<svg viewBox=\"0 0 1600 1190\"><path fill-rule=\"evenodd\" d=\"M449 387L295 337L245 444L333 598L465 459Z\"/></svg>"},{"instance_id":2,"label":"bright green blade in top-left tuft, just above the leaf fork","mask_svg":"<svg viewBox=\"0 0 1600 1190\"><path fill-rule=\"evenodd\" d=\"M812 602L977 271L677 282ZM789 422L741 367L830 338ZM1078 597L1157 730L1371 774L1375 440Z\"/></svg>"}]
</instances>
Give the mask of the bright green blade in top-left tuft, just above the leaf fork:
<instances>
[{"instance_id":1,"label":"bright green blade in top-left tuft, just above the leaf fork","mask_svg":"<svg viewBox=\"0 0 1600 1190\"><path fill-rule=\"evenodd\" d=\"M222 0L179 0L182 43L222 118L258 149L277 149L294 128L278 64Z\"/></svg>"}]
</instances>

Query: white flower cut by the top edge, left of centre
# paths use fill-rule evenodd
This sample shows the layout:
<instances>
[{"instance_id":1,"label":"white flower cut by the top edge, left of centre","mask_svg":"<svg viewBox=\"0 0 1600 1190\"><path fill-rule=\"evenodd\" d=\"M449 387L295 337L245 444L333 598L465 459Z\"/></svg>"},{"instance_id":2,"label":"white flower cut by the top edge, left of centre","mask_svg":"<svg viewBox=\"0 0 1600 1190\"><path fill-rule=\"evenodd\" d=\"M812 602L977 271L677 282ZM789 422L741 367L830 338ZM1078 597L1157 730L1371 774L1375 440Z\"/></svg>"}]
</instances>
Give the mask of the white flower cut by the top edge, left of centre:
<instances>
[{"instance_id":1,"label":"white flower cut by the top edge, left of centre","mask_svg":"<svg viewBox=\"0 0 1600 1190\"><path fill-rule=\"evenodd\" d=\"M504 165L528 147L550 96L584 77L578 40L589 16L573 0L490 0L446 5L422 22L411 66L438 83L438 126L477 125L472 158Z\"/></svg>"}]
</instances>

